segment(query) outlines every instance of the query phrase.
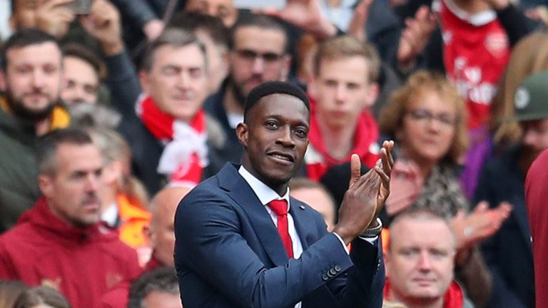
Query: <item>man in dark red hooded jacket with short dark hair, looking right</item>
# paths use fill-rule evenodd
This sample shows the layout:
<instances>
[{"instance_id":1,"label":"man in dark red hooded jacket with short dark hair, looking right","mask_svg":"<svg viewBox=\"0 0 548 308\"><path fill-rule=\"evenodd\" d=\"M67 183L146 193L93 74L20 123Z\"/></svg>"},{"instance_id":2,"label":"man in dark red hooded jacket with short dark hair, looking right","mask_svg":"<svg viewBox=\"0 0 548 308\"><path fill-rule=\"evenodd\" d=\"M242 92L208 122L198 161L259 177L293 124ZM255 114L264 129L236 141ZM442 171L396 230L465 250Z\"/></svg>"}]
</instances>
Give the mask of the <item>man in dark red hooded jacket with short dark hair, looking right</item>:
<instances>
[{"instance_id":1,"label":"man in dark red hooded jacket with short dark hair, looking right","mask_svg":"<svg viewBox=\"0 0 548 308\"><path fill-rule=\"evenodd\" d=\"M42 197L0 236L0 279L59 290L71 307L141 272L136 252L99 223L103 158L83 130L65 128L37 146Z\"/></svg>"}]
</instances>

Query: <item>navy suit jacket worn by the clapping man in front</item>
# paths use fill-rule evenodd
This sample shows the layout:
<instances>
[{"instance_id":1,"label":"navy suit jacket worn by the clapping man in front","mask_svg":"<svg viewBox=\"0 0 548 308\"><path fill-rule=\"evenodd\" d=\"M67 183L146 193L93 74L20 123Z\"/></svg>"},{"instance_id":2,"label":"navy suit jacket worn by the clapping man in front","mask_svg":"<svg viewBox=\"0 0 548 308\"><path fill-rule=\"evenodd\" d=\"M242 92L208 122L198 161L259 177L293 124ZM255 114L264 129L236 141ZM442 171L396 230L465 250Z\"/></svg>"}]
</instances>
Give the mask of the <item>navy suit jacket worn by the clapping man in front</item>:
<instances>
[{"instance_id":1,"label":"navy suit jacket worn by the clapping man in front","mask_svg":"<svg viewBox=\"0 0 548 308\"><path fill-rule=\"evenodd\" d=\"M350 256L323 217L290 199L303 245L288 260L265 206L227 164L181 200L175 217L175 264L185 308L381 307L380 245L352 242Z\"/></svg>"}]
</instances>

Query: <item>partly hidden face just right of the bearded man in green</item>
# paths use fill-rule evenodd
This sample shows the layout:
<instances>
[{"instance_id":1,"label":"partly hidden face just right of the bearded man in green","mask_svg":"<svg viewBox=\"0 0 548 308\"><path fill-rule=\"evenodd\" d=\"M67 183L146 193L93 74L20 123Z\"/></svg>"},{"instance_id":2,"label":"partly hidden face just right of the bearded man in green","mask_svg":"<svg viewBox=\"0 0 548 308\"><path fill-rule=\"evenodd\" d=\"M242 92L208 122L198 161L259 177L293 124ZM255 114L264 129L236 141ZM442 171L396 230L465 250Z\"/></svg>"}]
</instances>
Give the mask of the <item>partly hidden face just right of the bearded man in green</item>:
<instances>
[{"instance_id":1,"label":"partly hidden face just right of the bearded man in green","mask_svg":"<svg viewBox=\"0 0 548 308\"><path fill-rule=\"evenodd\" d=\"M74 56L63 59L64 87L61 99L67 105L97 103L99 76L90 63Z\"/></svg>"}]
</instances>

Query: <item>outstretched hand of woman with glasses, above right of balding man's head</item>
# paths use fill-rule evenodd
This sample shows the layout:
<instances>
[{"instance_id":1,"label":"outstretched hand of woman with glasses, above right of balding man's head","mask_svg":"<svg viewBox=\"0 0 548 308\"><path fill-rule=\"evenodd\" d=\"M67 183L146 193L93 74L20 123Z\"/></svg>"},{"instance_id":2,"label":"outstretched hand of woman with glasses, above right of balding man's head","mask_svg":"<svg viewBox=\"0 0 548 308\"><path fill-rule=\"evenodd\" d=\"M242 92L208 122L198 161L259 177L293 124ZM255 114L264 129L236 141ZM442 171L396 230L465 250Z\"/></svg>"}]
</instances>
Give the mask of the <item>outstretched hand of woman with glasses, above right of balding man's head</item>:
<instances>
[{"instance_id":1,"label":"outstretched hand of woman with glasses, above right of balding man's head","mask_svg":"<svg viewBox=\"0 0 548 308\"><path fill-rule=\"evenodd\" d=\"M473 245L494 235L506 220L512 205L501 202L494 209L489 209L487 202L480 202L470 215L459 211L451 221L451 227L457 241L457 250L467 250Z\"/></svg>"}]
</instances>

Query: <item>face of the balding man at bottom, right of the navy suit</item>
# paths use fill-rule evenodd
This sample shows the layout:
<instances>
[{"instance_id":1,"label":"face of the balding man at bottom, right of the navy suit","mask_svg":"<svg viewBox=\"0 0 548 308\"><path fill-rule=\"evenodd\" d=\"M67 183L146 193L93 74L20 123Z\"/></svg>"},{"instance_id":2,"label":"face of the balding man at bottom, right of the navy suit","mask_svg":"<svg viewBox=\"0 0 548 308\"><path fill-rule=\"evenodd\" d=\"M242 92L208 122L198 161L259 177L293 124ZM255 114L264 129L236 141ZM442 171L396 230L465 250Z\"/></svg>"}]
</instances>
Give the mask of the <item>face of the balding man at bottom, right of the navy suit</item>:
<instances>
[{"instance_id":1,"label":"face of the balding man at bottom, right of the navy suit","mask_svg":"<svg viewBox=\"0 0 548 308\"><path fill-rule=\"evenodd\" d=\"M431 302L443 298L453 279L455 240L442 220L404 218L390 232L386 253L390 298Z\"/></svg>"}]
</instances>

